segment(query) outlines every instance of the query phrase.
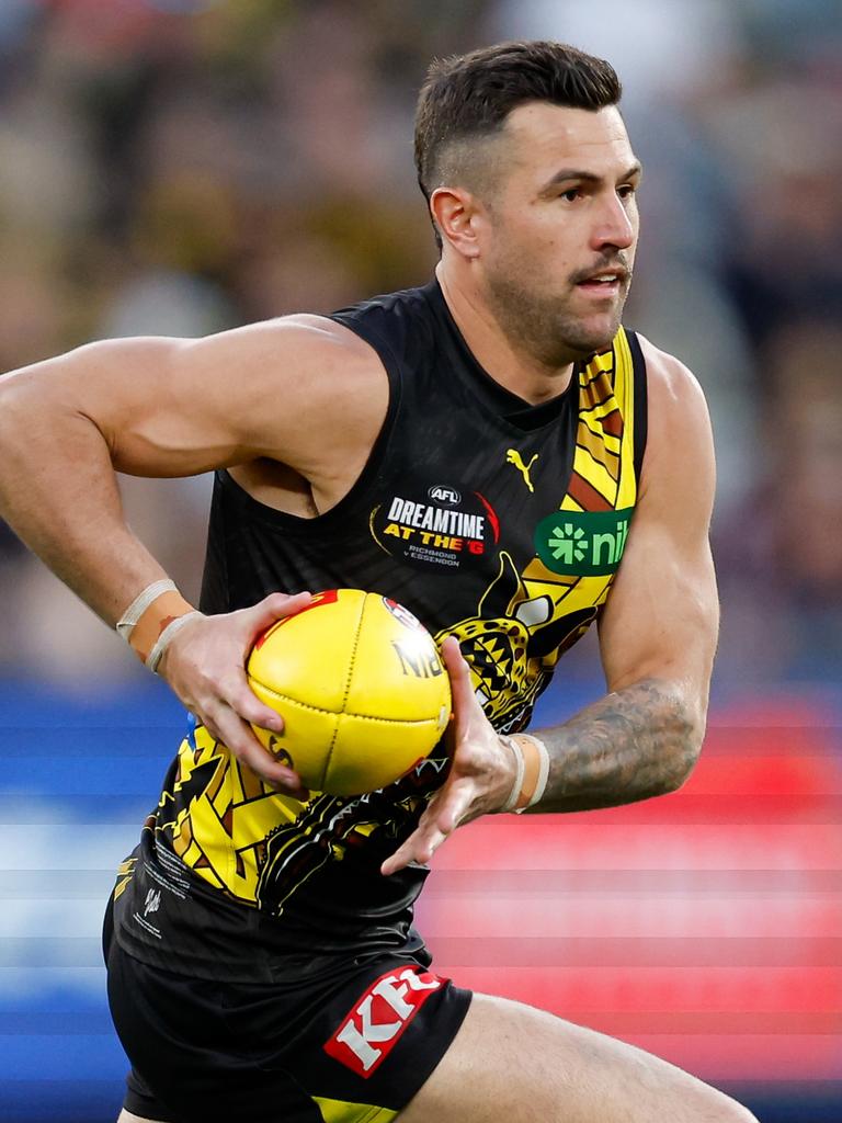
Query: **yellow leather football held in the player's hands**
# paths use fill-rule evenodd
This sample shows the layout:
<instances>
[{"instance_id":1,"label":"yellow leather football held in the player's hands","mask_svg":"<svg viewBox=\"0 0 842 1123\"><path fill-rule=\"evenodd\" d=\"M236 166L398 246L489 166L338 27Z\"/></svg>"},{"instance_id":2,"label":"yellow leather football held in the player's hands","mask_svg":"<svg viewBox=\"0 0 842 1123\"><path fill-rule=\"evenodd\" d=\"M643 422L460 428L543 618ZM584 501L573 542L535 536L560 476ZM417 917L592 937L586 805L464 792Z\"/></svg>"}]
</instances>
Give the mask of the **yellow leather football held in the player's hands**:
<instances>
[{"instance_id":1,"label":"yellow leather football held in the player's hands","mask_svg":"<svg viewBox=\"0 0 842 1123\"><path fill-rule=\"evenodd\" d=\"M314 792L359 795L423 759L450 718L436 642L402 604L333 588L273 624L246 663L255 694L284 719L255 733Z\"/></svg>"}]
</instances>

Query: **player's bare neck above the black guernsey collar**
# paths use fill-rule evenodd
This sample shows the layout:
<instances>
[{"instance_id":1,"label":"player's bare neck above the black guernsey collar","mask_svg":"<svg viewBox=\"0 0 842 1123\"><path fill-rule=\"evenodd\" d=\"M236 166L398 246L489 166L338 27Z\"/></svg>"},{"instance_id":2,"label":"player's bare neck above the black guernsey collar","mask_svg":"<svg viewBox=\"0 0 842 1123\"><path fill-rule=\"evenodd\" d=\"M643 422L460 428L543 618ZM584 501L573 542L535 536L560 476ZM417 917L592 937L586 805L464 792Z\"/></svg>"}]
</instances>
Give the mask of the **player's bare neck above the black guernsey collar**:
<instances>
[{"instance_id":1,"label":"player's bare neck above the black guernsey collar","mask_svg":"<svg viewBox=\"0 0 842 1123\"><path fill-rule=\"evenodd\" d=\"M483 369L501 386L531 405L562 394L570 385L573 363L547 366L512 339L474 286L460 284L443 261L436 276L456 326Z\"/></svg>"}]
</instances>

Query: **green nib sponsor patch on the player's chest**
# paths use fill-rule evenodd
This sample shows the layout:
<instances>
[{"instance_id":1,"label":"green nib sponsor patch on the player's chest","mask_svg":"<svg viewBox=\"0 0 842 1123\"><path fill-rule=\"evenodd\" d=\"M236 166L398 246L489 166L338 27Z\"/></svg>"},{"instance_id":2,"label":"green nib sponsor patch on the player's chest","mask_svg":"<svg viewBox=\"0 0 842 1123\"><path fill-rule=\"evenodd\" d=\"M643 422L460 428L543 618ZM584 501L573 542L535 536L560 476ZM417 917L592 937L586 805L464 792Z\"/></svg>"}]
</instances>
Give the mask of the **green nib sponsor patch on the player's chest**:
<instances>
[{"instance_id":1,"label":"green nib sponsor patch on the player's chest","mask_svg":"<svg viewBox=\"0 0 842 1123\"><path fill-rule=\"evenodd\" d=\"M536 554L551 573L604 577L616 573L634 508L556 511L536 527Z\"/></svg>"}]
</instances>

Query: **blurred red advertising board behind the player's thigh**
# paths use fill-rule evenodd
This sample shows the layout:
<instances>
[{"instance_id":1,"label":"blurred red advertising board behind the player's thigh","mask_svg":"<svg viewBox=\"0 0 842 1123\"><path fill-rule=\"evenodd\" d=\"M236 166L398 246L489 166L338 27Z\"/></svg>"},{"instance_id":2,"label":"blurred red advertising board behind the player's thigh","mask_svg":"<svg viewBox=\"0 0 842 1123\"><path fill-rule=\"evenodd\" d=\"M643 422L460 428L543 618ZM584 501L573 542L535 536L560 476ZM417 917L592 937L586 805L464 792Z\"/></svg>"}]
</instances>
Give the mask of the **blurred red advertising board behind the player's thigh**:
<instances>
[{"instance_id":1,"label":"blurred red advertising board behind the player's thigh","mask_svg":"<svg viewBox=\"0 0 842 1123\"><path fill-rule=\"evenodd\" d=\"M685 787L488 816L439 850L434 969L712 1080L842 1077L842 755L800 704L722 713Z\"/></svg>"}]
</instances>

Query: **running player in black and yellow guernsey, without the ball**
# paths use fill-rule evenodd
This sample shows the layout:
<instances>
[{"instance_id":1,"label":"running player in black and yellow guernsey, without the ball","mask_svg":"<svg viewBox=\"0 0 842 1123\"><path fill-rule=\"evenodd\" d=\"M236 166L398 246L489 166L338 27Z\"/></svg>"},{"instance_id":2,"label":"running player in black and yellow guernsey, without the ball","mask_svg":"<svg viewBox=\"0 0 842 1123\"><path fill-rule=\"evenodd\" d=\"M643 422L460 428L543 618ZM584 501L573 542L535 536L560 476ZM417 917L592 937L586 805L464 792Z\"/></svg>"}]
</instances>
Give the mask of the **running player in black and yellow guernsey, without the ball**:
<instances>
[{"instance_id":1,"label":"running player in black and yellow guernsey, without the ball","mask_svg":"<svg viewBox=\"0 0 842 1123\"><path fill-rule=\"evenodd\" d=\"M436 63L415 133L428 285L3 380L7 518L196 721L107 917L123 1123L752 1120L438 977L412 928L460 823L674 791L702 742L712 439L693 376L621 326L640 165L620 92L553 43ZM216 469L201 612L126 526L116 469ZM455 709L446 746L349 798L260 746L249 722L280 719L244 675L264 628L337 586L436 633ZM595 620L608 693L524 733Z\"/></svg>"}]
</instances>

